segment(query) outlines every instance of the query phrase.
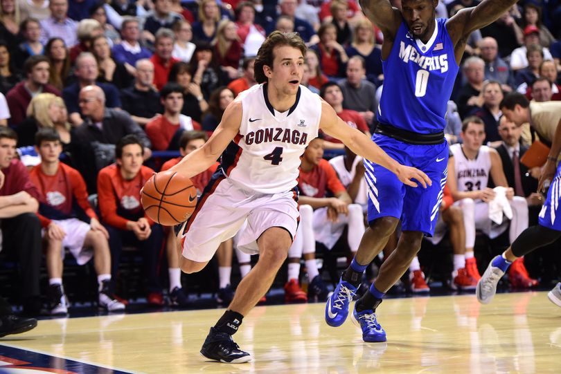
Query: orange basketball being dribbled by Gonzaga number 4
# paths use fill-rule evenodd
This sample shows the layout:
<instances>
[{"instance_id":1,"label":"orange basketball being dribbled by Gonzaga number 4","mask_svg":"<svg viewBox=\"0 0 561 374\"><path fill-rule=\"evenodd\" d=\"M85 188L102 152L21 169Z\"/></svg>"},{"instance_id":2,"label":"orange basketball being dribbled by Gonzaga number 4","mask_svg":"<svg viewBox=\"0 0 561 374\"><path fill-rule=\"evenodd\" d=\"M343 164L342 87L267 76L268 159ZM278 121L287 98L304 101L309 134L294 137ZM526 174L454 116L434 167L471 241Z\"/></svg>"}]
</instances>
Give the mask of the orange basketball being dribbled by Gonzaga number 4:
<instances>
[{"instance_id":1,"label":"orange basketball being dribbled by Gonzaga number 4","mask_svg":"<svg viewBox=\"0 0 561 374\"><path fill-rule=\"evenodd\" d=\"M197 189L189 178L167 170L154 174L142 189L141 203L154 222L173 226L184 222L197 205Z\"/></svg>"}]
</instances>

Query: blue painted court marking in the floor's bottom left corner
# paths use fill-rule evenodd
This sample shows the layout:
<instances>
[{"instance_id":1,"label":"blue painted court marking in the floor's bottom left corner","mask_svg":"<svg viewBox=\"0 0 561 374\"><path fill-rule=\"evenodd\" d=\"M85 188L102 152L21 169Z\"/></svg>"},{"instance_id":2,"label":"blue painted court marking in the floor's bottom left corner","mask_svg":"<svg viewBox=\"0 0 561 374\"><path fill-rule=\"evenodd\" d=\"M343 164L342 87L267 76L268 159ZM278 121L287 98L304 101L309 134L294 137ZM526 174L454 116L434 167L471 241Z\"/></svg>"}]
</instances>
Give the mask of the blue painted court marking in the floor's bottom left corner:
<instances>
[{"instance_id":1,"label":"blue painted court marking in the floor's bottom left corner","mask_svg":"<svg viewBox=\"0 0 561 374\"><path fill-rule=\"evenodd\" d=\"M11 373L131 374L133 372L0 344L0 374Z\"/></svg>"}]
</instances>

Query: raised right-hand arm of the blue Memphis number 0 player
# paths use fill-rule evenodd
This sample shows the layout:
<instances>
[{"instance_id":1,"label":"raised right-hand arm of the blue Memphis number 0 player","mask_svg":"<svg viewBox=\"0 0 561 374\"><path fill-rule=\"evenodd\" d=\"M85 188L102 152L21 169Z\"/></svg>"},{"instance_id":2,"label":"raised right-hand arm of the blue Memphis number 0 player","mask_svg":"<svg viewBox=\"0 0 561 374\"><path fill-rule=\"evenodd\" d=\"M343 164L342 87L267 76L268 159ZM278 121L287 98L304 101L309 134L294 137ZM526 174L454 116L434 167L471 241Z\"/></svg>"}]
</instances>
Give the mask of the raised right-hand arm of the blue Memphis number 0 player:
<instances>
[{"instance_id":1,"label":"raised right-hand arm of the blue Memphis number 0 player","mask_svg":"<svg viewBox=\"0 0 561 374\"><path fill-rule=\"evenodd\" d=\"M517 0L483 0L477 6L460 10L446 22L446 28L454 42L467 39L479 28L497 21Z\"/></svg>"}]
</instances>

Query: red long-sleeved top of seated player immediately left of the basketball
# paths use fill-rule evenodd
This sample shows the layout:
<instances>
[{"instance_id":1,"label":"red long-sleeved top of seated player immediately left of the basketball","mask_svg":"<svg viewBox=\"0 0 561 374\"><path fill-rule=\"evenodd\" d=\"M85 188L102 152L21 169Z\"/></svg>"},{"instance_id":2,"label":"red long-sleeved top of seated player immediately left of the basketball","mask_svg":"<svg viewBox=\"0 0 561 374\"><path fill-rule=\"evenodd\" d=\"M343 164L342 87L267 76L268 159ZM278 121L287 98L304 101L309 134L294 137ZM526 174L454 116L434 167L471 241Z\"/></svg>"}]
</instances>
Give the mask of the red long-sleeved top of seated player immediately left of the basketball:
<instances>
[{"instance_id":1,"label":"red long-sleeved top of seated player immediately left of the basketball","mask_svg":"<svg viewBox=\"0 0 561 374\"><path fill-rule=\"evenodd\" d=\"M144 212L140 201L140 191L146 181L154 175L150 167L142 166L139 174L131 180L123 179L118 165L104 167L98 174L98 200L101 218L108 225L119 230L127 230L127 216L144 216L154 225Z\"/></svg>"}]
</instances>

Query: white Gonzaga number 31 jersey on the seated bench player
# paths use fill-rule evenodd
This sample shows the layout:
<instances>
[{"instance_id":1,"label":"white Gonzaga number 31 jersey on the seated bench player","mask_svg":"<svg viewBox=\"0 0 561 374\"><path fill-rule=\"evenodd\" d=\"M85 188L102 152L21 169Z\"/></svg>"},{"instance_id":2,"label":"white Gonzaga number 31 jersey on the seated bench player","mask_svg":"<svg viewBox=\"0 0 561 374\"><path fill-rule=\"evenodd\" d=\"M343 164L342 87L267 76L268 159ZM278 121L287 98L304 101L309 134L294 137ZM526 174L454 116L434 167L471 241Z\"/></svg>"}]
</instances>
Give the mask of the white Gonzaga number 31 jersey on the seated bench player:
<instances>
[{"instance_id":1,"label":"white Gonzaga number 31 jersey on the seated bench player","mask_svg":"<svg viewBox=\"0 0 561 374\"><path fill-rule=\"evenodd\" d=\"M452 144L450 151L454 155L454 167L458 191L478 191L485 189L491 170L490 149L486 145L479 148L475 160L468 160L462 151L461 144Z\"/></svg>"}]
</instances>

